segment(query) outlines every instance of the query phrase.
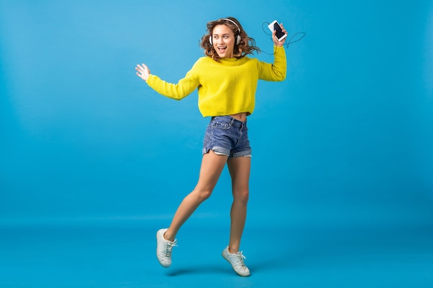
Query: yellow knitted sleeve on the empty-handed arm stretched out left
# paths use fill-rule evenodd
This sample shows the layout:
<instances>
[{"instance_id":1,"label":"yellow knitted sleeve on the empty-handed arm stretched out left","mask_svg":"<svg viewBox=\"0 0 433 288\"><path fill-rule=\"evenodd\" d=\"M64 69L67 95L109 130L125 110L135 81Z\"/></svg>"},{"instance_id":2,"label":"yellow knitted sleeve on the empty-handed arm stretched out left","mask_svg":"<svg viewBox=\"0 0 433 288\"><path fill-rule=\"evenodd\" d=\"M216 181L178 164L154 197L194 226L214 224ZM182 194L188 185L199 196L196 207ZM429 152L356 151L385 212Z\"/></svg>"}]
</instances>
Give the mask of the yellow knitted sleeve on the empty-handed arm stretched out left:
<instances>
[{"instance_id":1,"label":"yellow knitted sleeve on the empty-handed arm stretched out left","mask_svg":"<svg viewBox=\"0 0 433 288\"><path fill-rule=\"evenodd\" d=\"M195 65L194 65L195 66ZM199 86L199 77L194 72L194 66L190 71L179 80L177 84L172 84L167 81L160 79L156 75L149 75L147 79L147 85L158 92L160 95L180 100L187 95L190 95Z\"/></svg>"}]
</instances>

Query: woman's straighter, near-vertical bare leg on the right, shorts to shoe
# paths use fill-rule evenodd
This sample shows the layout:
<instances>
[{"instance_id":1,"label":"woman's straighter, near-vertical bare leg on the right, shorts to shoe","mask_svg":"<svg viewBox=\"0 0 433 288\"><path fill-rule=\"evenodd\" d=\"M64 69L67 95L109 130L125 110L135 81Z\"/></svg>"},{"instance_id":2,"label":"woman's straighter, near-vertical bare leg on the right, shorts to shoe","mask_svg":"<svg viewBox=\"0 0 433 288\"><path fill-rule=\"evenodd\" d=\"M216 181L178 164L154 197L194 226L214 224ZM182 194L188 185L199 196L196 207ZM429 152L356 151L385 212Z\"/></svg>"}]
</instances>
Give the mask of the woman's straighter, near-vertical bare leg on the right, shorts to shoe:
<instances>
[{"instance_id":1,"label":"woman's straighter, near-vertical bare leg on the right, shorts to shoe","mask_svg":"<svg viewBox=\"0 0 433 288\"><path fill-rule=\"evenodd\" d=\"M246 207L249 196L250 157L236 157L228 160L228 169L232 177L233 204L230 211L230 253L237 253L241 244L243 227L246 221Z\"/></svg>"}]
</instances>

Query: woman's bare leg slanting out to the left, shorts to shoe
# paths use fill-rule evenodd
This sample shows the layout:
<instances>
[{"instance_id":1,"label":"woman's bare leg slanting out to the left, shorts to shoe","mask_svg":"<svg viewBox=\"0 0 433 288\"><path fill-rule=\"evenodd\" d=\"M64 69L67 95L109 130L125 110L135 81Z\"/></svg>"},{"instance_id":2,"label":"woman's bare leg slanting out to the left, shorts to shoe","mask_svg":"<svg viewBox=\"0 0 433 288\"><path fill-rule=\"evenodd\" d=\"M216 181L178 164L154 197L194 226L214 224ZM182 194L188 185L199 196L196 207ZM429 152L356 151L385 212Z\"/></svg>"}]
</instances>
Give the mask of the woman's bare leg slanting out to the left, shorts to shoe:
<instances>
[{"instance_id":1,"label":"woman's bare leg slanting out to the left, shorts to shoe","mask_svg":"<svg viewBox=\"0 0 433 288\"><path fill-rule=\"evenodd\" d=\"M223 171L225 163L227 162L227 158L228 157L225 155L216 155L212 150L203 155L199 182L194 190L183 198L183 201L179 205L174 214L172 224L170 224L167 232L165 232L164 238L166 240L173 241L183 223L190 218L192 213L204 200L210 197L216 182Z\"/></svg>"}]
</instances>

